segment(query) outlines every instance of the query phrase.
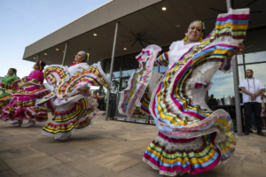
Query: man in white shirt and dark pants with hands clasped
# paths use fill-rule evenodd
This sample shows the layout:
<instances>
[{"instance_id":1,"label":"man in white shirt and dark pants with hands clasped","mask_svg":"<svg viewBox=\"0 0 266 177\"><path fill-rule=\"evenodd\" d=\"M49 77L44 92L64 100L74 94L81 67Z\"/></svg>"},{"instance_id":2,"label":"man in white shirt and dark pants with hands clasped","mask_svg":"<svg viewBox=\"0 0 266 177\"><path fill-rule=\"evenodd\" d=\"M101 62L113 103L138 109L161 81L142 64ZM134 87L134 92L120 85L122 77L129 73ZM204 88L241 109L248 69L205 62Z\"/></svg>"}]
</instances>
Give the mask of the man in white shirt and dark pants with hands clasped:
<instances>
[{"instance_id":1,"label":"man in white shirt and dark pants with hands clasped","mask_svg":"<svg viewBox=\"0 0 266 177\"><path fill-rule=\"evenodd\" d=\"M265 89L262 82L254 79L253 71L246 70L246 79L241 81L239 88L242 90L244 111L245 111L245 133L249 134L249 127L251 122L252 113L254 113L257 135L265 136L262 133L262 91Z\"/></svg>"}]
</instances>

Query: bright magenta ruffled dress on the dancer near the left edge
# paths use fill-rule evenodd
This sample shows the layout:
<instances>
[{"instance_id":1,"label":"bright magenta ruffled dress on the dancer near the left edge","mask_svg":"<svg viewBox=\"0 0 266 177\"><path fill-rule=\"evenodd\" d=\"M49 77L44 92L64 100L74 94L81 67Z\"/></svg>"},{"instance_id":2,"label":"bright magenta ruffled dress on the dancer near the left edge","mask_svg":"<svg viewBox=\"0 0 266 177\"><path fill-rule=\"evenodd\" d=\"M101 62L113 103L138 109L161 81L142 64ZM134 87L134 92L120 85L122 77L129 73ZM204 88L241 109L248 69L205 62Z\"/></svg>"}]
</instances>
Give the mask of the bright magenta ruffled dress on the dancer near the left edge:
<instances>
[{"instance_id":1,"label":"bright magenta ruffled dress on the dancer near the left edge","mask_svg":"<svg viewBox=\"0 0 266 177\"><path fill-rule=\"evenodd\" d=\"M38 98L50 94L50 89L43 86L43 72L32 71L27 77L16 86L16 91L11 94L9 104L2 109L2 120L8 119L30 119L37 122L43 122L48 119L47 109L35 107ZM30 82L32 85L25 85L22 89L18 89L20 84ZM0 85L3 88L4 85ZM5 85L5 88L14 89L12 85Z\"/></svg>"}]
</instances>

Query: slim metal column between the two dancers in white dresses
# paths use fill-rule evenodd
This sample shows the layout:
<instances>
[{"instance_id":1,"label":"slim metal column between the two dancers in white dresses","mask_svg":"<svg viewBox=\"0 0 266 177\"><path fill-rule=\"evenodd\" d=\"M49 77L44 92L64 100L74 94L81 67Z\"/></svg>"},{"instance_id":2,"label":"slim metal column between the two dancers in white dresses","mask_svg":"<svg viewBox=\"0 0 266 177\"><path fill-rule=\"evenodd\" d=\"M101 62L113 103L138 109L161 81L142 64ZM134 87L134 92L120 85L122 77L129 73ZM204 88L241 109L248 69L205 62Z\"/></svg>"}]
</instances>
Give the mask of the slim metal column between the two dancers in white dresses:
<instances>
[{"instance_id":1,"label":"slim metal column between the two dancers in white dresses","mask_svg":"<svg viewBox=\"0 0 266 177\"><path fill-rule=\"evenodd\" d=\"M116 38L117 38L117 30L118 30L118 22L116 22L115 25L115 31L114 31L114 39L113 39L113 52L112 52L112 60L111 60L111 66L110 66L110 81L112 81L112 75L113 75L113 61L114 61L114 52L115 52L115 45L116 45ZM110 102L110 90L108 89L107 92L107 101L106 101L106 120L109 120L109 102Z\"/></svg>"}]
</instances>

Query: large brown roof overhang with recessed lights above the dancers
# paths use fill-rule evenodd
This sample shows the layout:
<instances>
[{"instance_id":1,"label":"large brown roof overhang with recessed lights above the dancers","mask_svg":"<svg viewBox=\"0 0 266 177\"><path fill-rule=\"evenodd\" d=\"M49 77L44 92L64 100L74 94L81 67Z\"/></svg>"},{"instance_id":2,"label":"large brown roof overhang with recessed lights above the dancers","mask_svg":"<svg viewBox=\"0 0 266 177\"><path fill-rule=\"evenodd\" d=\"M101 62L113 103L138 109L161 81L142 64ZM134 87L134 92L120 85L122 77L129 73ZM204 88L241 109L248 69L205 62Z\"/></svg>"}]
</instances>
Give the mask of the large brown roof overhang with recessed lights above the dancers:
<instances>
[{"instance_id":1,"label":"large brown roof overhang with recessed lights above the dancers","mask_svg":"<svg viewBox=\"0 0 266 177\"><path fill-rule=\"evenodd\" d=\"M248 2L235 0L235 6L241 7ZM250 28L264 25L262 22L266 16L265 1L257 1L253 5L255 6L251 6L251 9L260 8L263 12L251 15ZM162 7L166 7L167 10L162 11ZM23 59L35 61L36 55L39 55L48 65L61 64L66 42L66 65L72 63L74 54L79 50L90 52L90 64L111 58L116 22L119 22L119 27L115 56L142 50L143 46L139 42L132 47L134 41L130 41L129 38L137 34L145 34L144 39L152 39L146 40L147 42L166 46L182 39L188 25L194 19L207 19L205 23L208 34L215 26L214 17L221 13L210 8L226 11L226 1L114 0L27 46ZM254 52L255 49L266 50L266 36L262 35L265 28L262 27L259 31L262 32L247 33L245 44L253 45L254 48L249 48L249 52ZM260 38L260 43L254 42L254 37Z\"/></svg>"}]
</instances>

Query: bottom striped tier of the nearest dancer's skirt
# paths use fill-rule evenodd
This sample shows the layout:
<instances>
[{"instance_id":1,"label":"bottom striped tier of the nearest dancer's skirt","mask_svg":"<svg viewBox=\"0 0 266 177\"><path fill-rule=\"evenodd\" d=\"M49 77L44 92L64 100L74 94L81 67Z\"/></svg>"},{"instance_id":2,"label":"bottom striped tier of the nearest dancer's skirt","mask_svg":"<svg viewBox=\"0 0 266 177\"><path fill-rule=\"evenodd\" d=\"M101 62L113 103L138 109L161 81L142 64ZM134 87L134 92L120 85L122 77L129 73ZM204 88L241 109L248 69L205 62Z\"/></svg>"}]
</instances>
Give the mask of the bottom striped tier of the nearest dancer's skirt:
<instances>
[{"instance_id":1,"label":"bottom striped tier of the nearest dancer's skirt","mask_svg":"<svg viewBox=\"0 0 266 177\"><path fill-rule=\"evenodd\" d=\"M189 139L159 135L145 150L143 160L160 174L202 173L218 165L221 152L215 146L216 133Z\"/></svg>"}]
</instances>

